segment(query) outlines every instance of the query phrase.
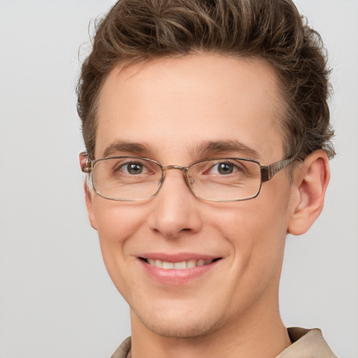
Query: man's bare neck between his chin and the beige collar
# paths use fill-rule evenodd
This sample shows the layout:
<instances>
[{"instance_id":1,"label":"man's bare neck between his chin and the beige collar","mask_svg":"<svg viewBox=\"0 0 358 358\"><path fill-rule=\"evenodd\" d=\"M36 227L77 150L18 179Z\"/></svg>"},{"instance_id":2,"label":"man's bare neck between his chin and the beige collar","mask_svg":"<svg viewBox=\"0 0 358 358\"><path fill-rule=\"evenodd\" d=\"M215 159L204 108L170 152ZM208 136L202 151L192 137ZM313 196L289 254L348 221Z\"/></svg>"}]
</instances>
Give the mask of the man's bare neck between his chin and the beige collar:
<instances>
[{"instance_id":1,"label":"man's bare neck between his chin and the beige collar","mask_svg":"<svg viewBox=\"0 0 358 358\"><path fill-rule=\"evenodd\" d=\"M159 336L131 312L131 358L276 357L291 344L280 319L278 304L264 310L257 307L250 310L209 334L190 338Z\"/></svg>"}]
</instances>

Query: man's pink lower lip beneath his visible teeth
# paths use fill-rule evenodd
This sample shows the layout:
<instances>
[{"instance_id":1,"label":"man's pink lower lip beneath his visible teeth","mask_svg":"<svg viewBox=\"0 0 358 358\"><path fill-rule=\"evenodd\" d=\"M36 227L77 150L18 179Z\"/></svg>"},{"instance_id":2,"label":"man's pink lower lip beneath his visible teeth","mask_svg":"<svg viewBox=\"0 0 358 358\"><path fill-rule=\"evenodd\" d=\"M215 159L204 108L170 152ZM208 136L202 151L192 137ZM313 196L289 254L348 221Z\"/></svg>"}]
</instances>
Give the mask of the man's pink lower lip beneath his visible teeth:
<instances>
[{"instance_id":1,"label":"man's pink lower lip beneath his visible teeth","mask_svg":"<svg viewBox=\"0 0 358 358\"><path fill-rule=\"evenodd\" d=\"M211 271L221 260L217 260L208 265L185 268L183 270L164 269L152 266L139 259L145 272L155 281L164 285L185 285L186 283L200 278Z\"/></svg>"}]
</instances>

